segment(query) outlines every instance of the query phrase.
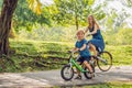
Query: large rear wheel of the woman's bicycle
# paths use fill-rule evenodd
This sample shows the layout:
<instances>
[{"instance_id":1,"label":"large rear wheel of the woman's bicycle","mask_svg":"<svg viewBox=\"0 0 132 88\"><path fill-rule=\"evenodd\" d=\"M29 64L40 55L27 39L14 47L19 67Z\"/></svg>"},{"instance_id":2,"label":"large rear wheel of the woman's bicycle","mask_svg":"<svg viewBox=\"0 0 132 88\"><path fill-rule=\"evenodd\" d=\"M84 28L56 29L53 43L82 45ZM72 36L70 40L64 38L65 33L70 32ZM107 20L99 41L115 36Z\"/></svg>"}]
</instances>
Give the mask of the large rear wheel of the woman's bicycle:
<instances>
[{"instance_id":1,"label":"large rear wheel of the woman's bicycle","mask_svg":"<svg viewBox=\"0 0 132 88\"><path fill-rule=\"evenodd\" d=\"M97 59L99 69L102 72L109 70L112 66L112 55L109 52L103 51L100 53L99 57L102 58L101 61Z\"/></svg>"}]
</instances>

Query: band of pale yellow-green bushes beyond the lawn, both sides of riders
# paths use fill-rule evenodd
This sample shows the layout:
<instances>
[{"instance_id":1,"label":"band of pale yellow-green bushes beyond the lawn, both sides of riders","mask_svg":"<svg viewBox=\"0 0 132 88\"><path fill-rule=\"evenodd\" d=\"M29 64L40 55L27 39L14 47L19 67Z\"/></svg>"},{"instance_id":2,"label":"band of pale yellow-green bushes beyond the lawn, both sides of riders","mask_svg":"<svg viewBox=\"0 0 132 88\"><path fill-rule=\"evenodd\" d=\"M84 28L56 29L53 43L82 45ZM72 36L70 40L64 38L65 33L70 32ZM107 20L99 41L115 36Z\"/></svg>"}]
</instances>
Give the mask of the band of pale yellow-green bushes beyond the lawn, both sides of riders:
<instances>
[{"instance_id":1,"label":"band of pale yellow-green bushes beyond the lawn, both sides of riders","mask_svg":"<svg viewBox=\"0 0 132 88\"><path fill-rule=\"evenodd\" d=\"M132 29L120 30L101 30L105 42L108 45L131 45L132 44ZM31 32L20 31L18 38L23 40L37 40L37 41L52 41L52 42L75 42L76 41L75 26L53 26L53 28L38 28ZM90 40L91 37L86 37Z\"/></svg>"}]
</instances>

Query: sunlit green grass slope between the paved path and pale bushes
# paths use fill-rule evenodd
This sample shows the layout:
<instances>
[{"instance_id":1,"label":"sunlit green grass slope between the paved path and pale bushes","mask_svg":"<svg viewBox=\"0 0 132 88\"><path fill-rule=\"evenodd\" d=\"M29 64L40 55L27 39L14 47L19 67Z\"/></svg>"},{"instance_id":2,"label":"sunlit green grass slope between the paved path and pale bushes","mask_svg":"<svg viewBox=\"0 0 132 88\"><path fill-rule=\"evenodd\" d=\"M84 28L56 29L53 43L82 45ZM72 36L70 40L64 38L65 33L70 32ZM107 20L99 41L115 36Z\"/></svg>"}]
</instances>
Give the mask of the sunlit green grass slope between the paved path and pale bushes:
<instances>
[{"instance_id":1,"label":"sunlit green grass slope between the paved path and pale bushes","mask_svg":"<svg viewBox=\"0 0 132 88\"><path fill-rule=\"evenodd\" d=\"M0 59L0 72L35 72L57 69L67 64L67 51L74 43L10 40L10 61ZM132 65L132 45L107 45L113 65Z\"/></svg>"}]
</instances>

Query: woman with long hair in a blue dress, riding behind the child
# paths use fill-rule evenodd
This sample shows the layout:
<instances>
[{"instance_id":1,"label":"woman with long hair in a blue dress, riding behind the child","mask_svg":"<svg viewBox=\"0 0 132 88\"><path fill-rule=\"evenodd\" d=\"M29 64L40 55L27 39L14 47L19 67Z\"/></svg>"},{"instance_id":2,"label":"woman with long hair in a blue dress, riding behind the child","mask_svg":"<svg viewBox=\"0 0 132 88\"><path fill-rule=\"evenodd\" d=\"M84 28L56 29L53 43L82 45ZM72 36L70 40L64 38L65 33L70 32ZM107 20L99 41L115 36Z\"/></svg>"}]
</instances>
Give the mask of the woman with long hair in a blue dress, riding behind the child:
<instances>
[{"instance_id":1,"label":"woman with long hair in a blue dress, riding behind the child","mask_svg":"<svg viewBox=\"0 0 132 88\"><path fill-rule=\"evenodd\" d=\"M88 16L88 28L86 29L85 33L87 33L88 31L88 35L92 35L92 38L88 41L89 50L92 51L94 54L97 56L98 53L105 50L105 42L100 32L100 28L96 22L94 15Z\"/></svg>"}]
</instances>

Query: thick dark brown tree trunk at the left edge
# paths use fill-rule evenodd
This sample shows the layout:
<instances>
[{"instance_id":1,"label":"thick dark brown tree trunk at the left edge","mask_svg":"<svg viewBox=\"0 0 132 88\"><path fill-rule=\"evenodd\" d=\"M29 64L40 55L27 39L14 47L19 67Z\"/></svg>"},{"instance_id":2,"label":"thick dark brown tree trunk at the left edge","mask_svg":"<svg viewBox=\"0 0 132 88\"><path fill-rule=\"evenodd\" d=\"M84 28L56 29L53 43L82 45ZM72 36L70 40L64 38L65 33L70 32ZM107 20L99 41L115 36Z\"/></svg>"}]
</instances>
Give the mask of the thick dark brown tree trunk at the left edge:
<instances>
[{"instance_id":1,"label":"thick dark brown tree trunk at the left edge","mask_svg":"<svg viewBox=\"0 0 132 88\"><path fill-rule=\"evenodd\" d=\"M0 15L0 55L9 55L9 33L18 0L3 0Z\"/></svg>"}]
</instances>

